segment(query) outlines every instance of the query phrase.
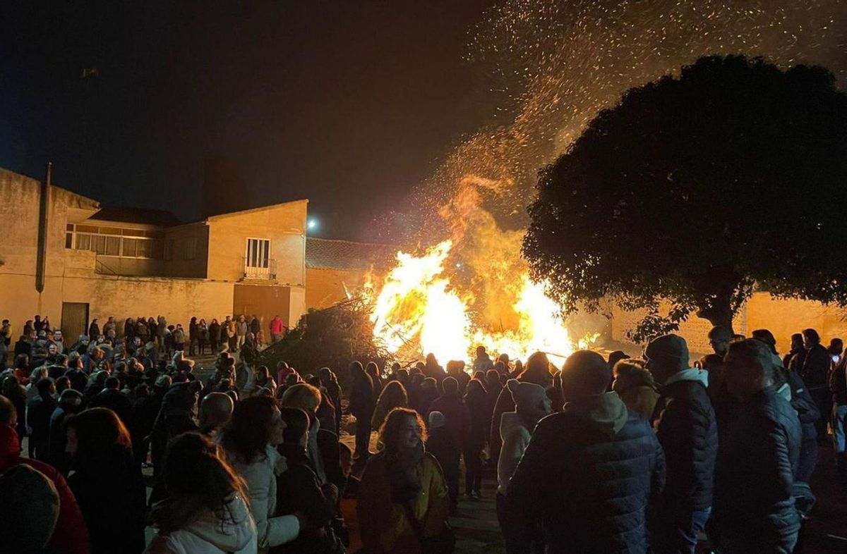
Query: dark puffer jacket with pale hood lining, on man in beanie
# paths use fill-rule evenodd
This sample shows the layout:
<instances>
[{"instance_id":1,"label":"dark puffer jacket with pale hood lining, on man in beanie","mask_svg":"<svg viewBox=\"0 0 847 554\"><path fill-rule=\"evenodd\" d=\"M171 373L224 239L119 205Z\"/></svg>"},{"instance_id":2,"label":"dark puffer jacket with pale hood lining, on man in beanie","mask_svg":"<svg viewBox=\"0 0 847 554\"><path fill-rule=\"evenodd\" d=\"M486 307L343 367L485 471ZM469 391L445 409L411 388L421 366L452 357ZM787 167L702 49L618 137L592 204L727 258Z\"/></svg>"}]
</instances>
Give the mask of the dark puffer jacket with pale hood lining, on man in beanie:
<instances>
[{"instance_id":1,"label":"dark puffer jacket with pale hood lining, on man in beanie","mask_svg":"<svg viewBox=\"0 0 847 554\"><path fill-rule=\"evenodd\" d=\"M662 387L656 436L667 463L659 505L672 513L711 506L717 459L717 421L706 391L706 371L689 369Z\"/></svg>"}]
</instances>

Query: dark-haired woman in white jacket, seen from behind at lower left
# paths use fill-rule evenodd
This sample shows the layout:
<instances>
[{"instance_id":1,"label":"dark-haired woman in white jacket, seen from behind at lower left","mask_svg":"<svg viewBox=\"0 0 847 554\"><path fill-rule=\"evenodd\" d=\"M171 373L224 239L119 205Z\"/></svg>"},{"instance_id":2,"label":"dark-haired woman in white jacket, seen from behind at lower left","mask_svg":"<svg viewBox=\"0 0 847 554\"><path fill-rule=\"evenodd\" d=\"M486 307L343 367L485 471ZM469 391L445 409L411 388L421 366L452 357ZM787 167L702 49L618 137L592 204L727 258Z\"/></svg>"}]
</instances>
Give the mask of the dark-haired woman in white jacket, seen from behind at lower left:
<instances>
[{"instance_id":1,"label":"dark-haired woman in white jacket, seen from behind at lower left","mask_svg":"<svg viewBox=\"0 0 847 554\"><path fill-rule=\"evenodd\" d=\"M276 447L283 442L283 431L285 422L274 398L251 397L235 405L220 438L226 458L246 482L260 549L291 542L300 533L296 515L276 515L277 474L283 469Z\"/></svg>"}]
</instances>

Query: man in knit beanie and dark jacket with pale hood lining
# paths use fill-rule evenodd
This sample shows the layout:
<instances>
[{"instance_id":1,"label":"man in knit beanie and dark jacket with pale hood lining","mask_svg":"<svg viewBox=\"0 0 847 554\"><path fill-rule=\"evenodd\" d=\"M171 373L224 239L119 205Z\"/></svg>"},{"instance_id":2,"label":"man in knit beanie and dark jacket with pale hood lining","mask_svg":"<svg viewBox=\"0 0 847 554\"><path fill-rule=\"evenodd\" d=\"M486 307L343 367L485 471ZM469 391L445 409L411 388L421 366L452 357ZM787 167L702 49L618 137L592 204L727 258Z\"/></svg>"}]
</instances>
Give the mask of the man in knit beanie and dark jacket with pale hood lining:
<instances>
[{"instance_id":1,"label":"man in knit beanie and dark jacket with pale hood lining","mask_svg":"<svg viewBox=\"0 0 847 554\"><path fill-rule=\"evenodd\" d=\"M647 345L647 364L660 386L656 436L665 452L667 480L654 506L653 550L694 554L711 512L717 458L717 421L707 392L708 374L689 368L688 344L677 335Z\"/></svg>"}]
</instances>

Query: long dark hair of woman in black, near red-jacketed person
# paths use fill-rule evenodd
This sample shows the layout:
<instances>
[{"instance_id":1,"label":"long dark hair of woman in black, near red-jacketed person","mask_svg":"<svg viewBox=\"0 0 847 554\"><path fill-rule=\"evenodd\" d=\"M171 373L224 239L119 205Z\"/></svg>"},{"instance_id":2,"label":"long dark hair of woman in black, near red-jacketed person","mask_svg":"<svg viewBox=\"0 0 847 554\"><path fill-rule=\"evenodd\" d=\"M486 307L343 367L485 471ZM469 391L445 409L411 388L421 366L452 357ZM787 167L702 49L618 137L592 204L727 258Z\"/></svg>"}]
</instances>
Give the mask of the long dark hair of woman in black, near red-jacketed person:
<instances>
[{"instance_id":1,"label":"long dark hair of woman in black, near red-jacketed person","mask_svg":"<svg viewBox=\"0 0 847 554\"><path fill-rule=\"evenodd\" d=\"M72 415L65 423L76 434L74 467L100 470L132 454L130 431L118 414L108 408L89 408Z\"/></svg>"}]
</instances>

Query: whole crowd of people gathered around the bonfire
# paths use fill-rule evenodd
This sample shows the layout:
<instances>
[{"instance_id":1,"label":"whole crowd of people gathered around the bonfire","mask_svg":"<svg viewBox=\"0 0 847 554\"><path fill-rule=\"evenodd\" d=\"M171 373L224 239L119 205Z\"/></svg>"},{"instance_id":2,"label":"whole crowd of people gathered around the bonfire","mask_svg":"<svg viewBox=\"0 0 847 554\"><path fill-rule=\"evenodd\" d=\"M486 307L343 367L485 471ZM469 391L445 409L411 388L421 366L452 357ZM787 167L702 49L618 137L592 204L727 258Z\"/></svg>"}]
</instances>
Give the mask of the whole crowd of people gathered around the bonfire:
<instances>
[{"instance_id":1,"label":"whole crowd of people gathered around the bonfire","mask_svg":"<svg viewBox=\"0 0 847 554\"><path fill-rule=\"evenodd\" d=\"M208 379L181 326L151 341L155 321L119 334L109 318L60 348L32 323L46 355L36 365L33 343L0 375L0 518L19 522L0 545L13 551L341 554L348 500L363 552L440 554L462 485L478 500L489 467L510 554L694 552L704 533L720 552L791 552L830 432L847 476L847 357L812 329L783 358L767 330L716 327L694 365L676 335L639 359L583 350L562 367L483 347L469 365L353 361L351 449L335 372L253 364L252 322L215 345Z\"/></svg>"}]
</instances>

